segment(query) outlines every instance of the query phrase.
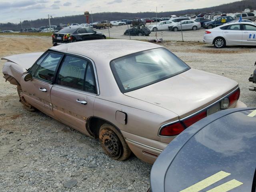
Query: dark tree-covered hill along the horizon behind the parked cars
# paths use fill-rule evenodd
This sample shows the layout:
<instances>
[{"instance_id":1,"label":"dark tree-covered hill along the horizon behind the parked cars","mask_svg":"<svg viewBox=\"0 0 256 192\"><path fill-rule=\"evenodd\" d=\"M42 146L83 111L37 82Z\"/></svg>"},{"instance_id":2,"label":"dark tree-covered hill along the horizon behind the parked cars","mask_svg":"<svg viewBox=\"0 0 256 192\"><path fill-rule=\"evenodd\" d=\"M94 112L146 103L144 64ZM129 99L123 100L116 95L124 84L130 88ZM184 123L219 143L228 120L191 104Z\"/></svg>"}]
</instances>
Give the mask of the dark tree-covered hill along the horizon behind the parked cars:
<instances>
[{"instance_id":1,"label":"dark tree-covered hill along the horizon behind the parked cars","mask_svg":"<svg viewBox=\"0 0 256 192\"><path fill-rule=\"evenodd\" d=\"M242 0L237 2L232 2L228 4L222 4L219 6L208 7L208 8L200 8L200 9L187 9L180 11L170 11L170 12L160 12L158 13L158 17L167 17L169 15L185 15L185 14L199 14L201 12L209 12L212 13L214 11L220 11L223 13L235 13L242 12L244 9L249 8L251 11L256 10L256 0ZM156 12L138 12L138 13L127 13L127 12L101 12L94 13L92 17L90 16L90 22L101 21L101 20L122 20L122 19L132 19L132 18L152 18L156 17ZM86 18L83 14L80 15L72 15L72 16L62 16L62 17L54 17L51 18L52 25L59 24L68 24L68 23L85 23ZM49 25L48 18L37 19L37 20L24 20L22 22L23 28L30 27L40 27ZM21 29L21 25L14 23L0 23L0 30L14 30L19 31Z\"/></svg>"}]
</instances>

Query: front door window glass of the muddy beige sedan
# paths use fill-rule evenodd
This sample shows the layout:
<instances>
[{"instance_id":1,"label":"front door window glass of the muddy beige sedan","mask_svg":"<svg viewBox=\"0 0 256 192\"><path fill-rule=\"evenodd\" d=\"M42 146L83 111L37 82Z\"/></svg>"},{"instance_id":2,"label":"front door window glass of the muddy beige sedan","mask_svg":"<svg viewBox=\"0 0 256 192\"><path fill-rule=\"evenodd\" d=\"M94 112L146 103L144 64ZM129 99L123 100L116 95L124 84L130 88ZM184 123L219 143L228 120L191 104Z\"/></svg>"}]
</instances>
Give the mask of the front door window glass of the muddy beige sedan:
<instances>
[{"instance_id":1,"label":"front door window glass of the muddy beige sedan","mask_svg":"<svg viewBox=\"0 0 256 192\"><path fill-rule=\"evenodd\" d=\"M34 77L52 83L54 80L54 72L61 58L62 54L49 53L36 69Z\"/></svg>"}]
</instances>

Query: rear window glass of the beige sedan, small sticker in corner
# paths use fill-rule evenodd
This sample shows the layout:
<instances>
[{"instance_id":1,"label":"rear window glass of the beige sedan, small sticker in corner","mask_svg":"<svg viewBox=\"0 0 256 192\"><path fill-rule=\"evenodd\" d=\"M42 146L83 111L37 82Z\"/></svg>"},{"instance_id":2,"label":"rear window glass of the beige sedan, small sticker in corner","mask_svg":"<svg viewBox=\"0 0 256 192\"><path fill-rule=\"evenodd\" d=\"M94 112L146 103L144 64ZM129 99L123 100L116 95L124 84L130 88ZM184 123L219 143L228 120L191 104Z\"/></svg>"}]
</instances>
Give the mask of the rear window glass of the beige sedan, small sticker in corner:
<instances>
[{"instance_id":1,"label":"rear window glass of the beige sedan, small sticker in corner","mask_svg":"<svg viewBox=\"0 0 256 192\"><path fill-rule=\"evenodd\" d=\"M180 74L190 67L165 48L113 60L110 67L121 92L129 92Z\"/></svg>"}]
</instances>

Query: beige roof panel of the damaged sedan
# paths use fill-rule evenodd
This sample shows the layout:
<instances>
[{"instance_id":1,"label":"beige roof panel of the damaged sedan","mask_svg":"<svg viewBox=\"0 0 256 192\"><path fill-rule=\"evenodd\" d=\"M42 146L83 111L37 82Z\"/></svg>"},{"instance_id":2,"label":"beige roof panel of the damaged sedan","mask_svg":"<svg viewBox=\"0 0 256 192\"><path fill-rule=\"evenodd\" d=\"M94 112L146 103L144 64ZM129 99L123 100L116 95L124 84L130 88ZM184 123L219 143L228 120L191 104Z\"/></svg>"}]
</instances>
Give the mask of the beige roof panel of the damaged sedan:
<instances>
[{"instance_id":1,"label":"beige roof panel of the damaged sedan","mask_svg":"<svg viewBox=\"0 0 256 192\"><path fill-rule=\"evenodd\" d=\"M61 44L50 49L79 54L92 60L102 60L104 63L109 63L115 58L160 47L162 46L138 40L108 39Z\"/></svg>"}]
</instances>

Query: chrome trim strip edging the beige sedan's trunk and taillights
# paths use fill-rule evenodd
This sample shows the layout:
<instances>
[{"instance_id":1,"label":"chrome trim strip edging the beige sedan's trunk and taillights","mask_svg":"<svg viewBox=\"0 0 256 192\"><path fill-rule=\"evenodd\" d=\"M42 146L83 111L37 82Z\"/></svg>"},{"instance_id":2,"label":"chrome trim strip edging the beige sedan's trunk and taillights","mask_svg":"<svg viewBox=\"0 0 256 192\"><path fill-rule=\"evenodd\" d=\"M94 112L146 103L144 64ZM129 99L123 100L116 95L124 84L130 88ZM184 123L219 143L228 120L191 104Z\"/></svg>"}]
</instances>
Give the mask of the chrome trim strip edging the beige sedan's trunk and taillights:
<instances>
[{"instance_id":1,"label":"chrome trim strip edging the beige sedan's trunk and taillights","mask_svg":"<svg viewBox=\"0 0 256 192\"><path fill-rule=\"evenodd\" d=\"M202 111L204 111L204 110L207 110L208 108L214 106L215 104L217 104L218 102L220 102L220 101L223 100L224 98L226 98L226 97L230 96L231 94L233 94L234 92L236 92L238 89L239 89L239 87L237 86L237 87L236 87L234 90L232 90L229 94L223 96L222 98L218 99L217 101L213 102L212 104L206 106L205 108L202 108L201 110L199 110L199 111L197 111L197 112L195 112L195 113L192 113L192 114L190 114L190 115L188 115L188 116L186 116L186 117L184 117L184 118L181 118L181 119L179 119L179 120L175 120L175 121L172 121L172 122L168 122L168 123L166 123L166 124L163 124L163 125L160 127L160 129L158 130L158 136L159 136L159 137L167 137L167 138L176 137L177 135L175 135L175 136L162 136L162 135L160 135L160 131L161 131L162 128L164 128L165 126L168 126L168 125L170 125L170 124L173 124L173 123L176 123L176 122L180 122L180 121L186 120L187 118L190 118L190 117L192 117L192 116L195 116L195 115L199 114L200 112L202 112Z\"/></svg>"}]
</instances>

